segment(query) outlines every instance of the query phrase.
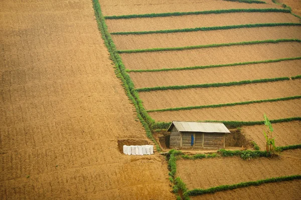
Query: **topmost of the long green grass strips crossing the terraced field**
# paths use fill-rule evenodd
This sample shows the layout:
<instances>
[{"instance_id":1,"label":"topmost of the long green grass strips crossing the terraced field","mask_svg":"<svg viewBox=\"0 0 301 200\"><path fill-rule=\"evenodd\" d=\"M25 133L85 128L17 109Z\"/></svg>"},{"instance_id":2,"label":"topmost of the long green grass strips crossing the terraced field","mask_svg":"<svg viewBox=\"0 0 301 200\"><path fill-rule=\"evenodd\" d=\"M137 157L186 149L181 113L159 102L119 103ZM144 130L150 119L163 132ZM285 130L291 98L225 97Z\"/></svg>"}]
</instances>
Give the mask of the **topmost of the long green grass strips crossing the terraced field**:
<instances>
[{"instance_id":1,"label":"topmost of the long green grass strips crossing the terraced field","mask_svg":"<svg viewBox=\"0 0 301 200\"><path fill-rule=\"evenodd\" d=\"M131 19L131 18L155 18L155 17L171 17L171 16L184 16L184 15L207 15L207 14L223 14L223 13L290 13L286 9L229 9L229 10L215 10L215 11L196 11L196 12L175 12L175 13L152 13L142 15L121 15L121 16L105 16L106 20L117 19Z\"/></svg>"}]
</instances>

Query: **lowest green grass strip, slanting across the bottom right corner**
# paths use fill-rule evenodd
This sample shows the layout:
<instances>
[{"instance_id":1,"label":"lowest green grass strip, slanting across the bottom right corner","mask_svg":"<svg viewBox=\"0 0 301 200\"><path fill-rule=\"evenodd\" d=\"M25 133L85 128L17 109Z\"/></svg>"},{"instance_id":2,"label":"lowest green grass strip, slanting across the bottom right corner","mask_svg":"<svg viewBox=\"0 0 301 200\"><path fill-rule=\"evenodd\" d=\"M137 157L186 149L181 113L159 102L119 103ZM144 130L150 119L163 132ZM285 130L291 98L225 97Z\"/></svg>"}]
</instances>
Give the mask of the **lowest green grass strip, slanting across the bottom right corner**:
<instances>
[{"instance_id":1,"label":"lowest green grass strip, slanting across the bottom right corner","mask_svg":"<svg viewBox=\"0 0 301 200\"><path fill-rule=\"evenodd\" d=\"M208 189L192 189L186 191L184 193L184 196L185 197L196 196L196 195L207 194L207 193L215 193L217 191L225 191L225 190L231 190L231 189L249 187L249 186L258 186L264 183L272 183L272 182L280 182L280 181L288 181L288 180L296 180L296 179L301 179L301 175L273 177L273 178L267 178L267 179L256 180L256 181L241 182L232 185L219 185L216 187L210 187Z\"/></svg>"}]
</instances>

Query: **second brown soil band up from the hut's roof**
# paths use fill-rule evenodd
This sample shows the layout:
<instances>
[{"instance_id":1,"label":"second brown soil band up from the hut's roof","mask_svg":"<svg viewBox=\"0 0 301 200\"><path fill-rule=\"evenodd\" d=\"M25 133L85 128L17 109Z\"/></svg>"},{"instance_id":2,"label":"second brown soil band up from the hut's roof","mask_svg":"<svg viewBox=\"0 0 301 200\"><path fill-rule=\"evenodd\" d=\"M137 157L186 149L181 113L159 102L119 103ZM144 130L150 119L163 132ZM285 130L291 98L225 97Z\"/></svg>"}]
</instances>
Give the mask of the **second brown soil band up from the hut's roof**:
<instances>
[{"instance_id":1,"label":"second brown soil band up from the hut's roof","mask_svg":"<svg viewBox=\"0 0 301 200\"><path fill-rule=\"evenodd\" d=\"M139 92L146 110L248 102L297 95L301 95L301 79Z\"/></svg>"}]
</instances>

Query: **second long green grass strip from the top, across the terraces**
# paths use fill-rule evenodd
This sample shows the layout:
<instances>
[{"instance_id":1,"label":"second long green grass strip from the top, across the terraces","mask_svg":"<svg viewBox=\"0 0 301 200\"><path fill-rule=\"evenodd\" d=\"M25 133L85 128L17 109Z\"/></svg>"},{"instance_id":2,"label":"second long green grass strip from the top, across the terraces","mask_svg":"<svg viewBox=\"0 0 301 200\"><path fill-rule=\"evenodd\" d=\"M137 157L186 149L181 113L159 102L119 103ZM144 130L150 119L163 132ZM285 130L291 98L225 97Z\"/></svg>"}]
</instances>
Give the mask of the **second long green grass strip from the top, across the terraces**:
<instances>
[{"instance_id":1,"label":"second long green grass strip from the top, across the terraces","mask_svg":"<svg viewBox=\"0 0 301 200\"><path fill-rule=\"evenodd\" d=\"M158 30L158 31L113 32L111 33L111 35L142 35L142 34L161 34L161 33L164 34L164 33L182 33L182 32L195 32L195 31L216 31L216 30L241 29L241 28L256 28L256 27L300 26L300 25L301 23L244 24L244 25L197 27L197 28Z\"/></svg>"}]
</instances>

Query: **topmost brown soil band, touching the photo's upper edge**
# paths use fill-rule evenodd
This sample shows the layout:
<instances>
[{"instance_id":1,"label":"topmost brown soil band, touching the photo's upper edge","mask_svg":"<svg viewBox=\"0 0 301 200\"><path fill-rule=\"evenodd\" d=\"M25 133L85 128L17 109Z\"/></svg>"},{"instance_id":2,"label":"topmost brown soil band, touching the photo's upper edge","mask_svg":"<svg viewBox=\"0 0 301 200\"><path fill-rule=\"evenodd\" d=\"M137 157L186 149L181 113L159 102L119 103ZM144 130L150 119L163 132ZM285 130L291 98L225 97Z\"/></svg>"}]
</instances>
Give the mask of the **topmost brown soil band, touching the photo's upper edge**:
<instances>
[{"instance_id":1,"label":"topmost brown soil band, touching the photo's upper edge","mask_svg":"<svg viewBox=\"0 0 301 200\"><path fill-rule=\"evenodd\" d=\"M137 1L137 0L100 0L104 16L112 15L133 15L145 13L169 13L169 12L190 12L210 11L227 9L262 9L281 8L269 1L267 4L242 4L237 2L226 2L222 0L175 0L166 1Z\"/></svg>"}]
</instances>

